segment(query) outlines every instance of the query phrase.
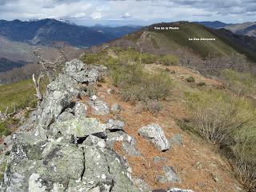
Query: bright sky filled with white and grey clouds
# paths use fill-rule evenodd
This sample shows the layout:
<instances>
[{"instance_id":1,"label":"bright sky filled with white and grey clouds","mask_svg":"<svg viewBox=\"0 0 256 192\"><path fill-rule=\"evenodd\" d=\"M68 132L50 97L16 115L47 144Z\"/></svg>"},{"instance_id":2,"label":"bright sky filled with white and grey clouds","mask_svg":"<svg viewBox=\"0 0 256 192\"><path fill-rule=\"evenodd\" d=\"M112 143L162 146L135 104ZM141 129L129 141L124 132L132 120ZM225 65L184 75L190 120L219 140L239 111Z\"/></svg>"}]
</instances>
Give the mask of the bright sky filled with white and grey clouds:
<instances>
[{"instance_id":1,"label":"bright sky filled with white and grey clouds","mask_svg":"<svg viewBox=\"0 0 256 192\"><path fill-rule=\"evenodd\" d=\"M0 0L0 19L58 18L78 25L256 22L256 0Z\"/></svg>"}]
</instances>

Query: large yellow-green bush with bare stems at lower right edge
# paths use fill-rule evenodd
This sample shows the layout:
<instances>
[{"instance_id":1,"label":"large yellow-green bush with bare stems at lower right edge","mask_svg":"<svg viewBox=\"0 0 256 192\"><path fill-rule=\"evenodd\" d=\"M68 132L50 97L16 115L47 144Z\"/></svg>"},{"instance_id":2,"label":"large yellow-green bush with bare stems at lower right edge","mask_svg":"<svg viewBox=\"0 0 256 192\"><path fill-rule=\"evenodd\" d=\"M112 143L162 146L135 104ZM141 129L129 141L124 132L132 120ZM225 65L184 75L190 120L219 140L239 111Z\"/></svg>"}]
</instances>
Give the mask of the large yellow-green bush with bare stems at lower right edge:
<instances>
[{"instance_id":1,"label":"large yellow-green bush with bare stems at lower right edge","mask_svg":"<svg viewBox=\"0 0 256 192\"><path fill-rule=\"evenodd\" d=\"M246 98L223 90L186 94L190 127L203 138L233 155L238 177L250 191L256 189L256 109Z\"/></svg>"}]
</instances>

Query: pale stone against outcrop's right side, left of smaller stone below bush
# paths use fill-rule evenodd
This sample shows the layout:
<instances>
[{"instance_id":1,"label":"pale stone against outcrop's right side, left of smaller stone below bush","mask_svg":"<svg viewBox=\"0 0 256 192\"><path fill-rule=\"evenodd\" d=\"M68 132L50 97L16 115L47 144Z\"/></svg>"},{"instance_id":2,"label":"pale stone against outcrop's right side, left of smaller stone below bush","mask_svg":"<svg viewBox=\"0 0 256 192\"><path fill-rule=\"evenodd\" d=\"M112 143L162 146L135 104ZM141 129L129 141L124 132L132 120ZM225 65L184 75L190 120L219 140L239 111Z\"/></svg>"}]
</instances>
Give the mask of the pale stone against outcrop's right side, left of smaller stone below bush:
<instances>
[{"instance_id":1,"label":"pale stone against outcrop's right side, left of smaller stone below bush","mask_svg":"<svg viewBox=\"0 0 256 192\"><path fill-rule=\"evenodd\" d=\"M88 103L92 109L92 114L94 115L110 114L110 109L106 102L103 102L102 100L96 100L96 101L88 101Z\"/></svg>"}]
</instances>

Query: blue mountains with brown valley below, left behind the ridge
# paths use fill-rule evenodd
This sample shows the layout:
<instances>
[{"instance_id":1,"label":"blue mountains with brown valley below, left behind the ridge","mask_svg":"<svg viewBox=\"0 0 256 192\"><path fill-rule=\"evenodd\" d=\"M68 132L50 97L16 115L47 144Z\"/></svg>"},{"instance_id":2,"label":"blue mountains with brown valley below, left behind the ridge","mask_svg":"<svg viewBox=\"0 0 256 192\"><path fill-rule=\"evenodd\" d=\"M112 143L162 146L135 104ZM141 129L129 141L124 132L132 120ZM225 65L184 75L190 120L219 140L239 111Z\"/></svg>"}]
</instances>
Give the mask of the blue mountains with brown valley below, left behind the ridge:
<instances>
[{"instance_id":1,"label":"blue mountains with brown valley below, left behind the ridge","mask_svg":"<svg viewBox=\"0 0 256 192\"><path fill-rule=\"evenodd\" d=\"M53 42L88 47L121 38L139 30L140 26L77 26L55 19L0 20L0 72L36 62L33 50L39 46L52 50Z\"/></svg>"}]
</instances>

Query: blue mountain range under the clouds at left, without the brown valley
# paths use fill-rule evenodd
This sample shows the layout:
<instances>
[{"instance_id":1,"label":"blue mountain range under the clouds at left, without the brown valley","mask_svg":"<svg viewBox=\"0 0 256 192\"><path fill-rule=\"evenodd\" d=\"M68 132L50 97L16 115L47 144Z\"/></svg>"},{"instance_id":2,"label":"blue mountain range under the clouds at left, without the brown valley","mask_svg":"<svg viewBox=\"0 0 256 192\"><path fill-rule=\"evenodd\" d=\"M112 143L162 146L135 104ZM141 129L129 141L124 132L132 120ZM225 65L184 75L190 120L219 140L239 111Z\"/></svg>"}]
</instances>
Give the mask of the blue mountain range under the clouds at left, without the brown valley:
<instances>
[{"instance_id":1,"label":"blue mountain range under the clouds at left, without the brown valley","mask_svg":"<svg viewBox=\"0 0 256 192\"><path fill-rule=\"evenodd\" d=\"M0 20L0 35L16 42L49 46L52 42L66 42L71 46L94 46L109 42L139 30L140 26L77 26L55 19L22 22Z\"/></svg>"}]
</instances>

